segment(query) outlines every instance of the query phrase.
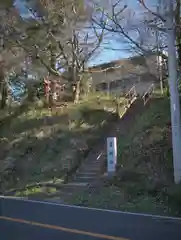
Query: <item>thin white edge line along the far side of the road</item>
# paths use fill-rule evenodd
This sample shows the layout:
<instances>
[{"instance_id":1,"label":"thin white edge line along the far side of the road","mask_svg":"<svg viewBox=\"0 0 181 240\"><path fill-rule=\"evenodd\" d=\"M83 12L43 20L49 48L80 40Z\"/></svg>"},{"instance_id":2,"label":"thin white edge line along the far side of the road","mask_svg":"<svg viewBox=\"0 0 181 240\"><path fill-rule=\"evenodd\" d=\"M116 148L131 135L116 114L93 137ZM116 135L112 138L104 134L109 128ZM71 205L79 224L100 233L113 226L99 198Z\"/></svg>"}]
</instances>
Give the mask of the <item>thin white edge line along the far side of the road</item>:
<instances>
[{"instance_id":1,"label":"thin white edge line along the far side of the road","mask_svg":"<svg viewBox=\"0 0 181 240\"><path fill-rule=\"evenodd\" d=\"M0 196L0 199L1 198L2 199L13 199L13 200L17 200L17 201L30 202L30 203L41 203L41 204L45 204L45 205L47 204L47 205L54 205L54 206L67 207L67 208L77 208L77 209L85 209L85 210L92 210L92 211L100 211L100 212L125 214L125 215L140 216L140 217L151 217L151 218L157 218L157 219L165 219L165 220L167 219L167 220L181 221L180 217L161 216L161 215L154 215L154 214L147 214L147 213L123 212L123 211L118 211L118 210L82 207L82 206L77 206L77 205L68 205L68 204L48 202L48 201L38 201L38 200L36 201L36 200L29 200L29 199L9 197L9 196L8 197Z\"/></svg>"}]
</instances>

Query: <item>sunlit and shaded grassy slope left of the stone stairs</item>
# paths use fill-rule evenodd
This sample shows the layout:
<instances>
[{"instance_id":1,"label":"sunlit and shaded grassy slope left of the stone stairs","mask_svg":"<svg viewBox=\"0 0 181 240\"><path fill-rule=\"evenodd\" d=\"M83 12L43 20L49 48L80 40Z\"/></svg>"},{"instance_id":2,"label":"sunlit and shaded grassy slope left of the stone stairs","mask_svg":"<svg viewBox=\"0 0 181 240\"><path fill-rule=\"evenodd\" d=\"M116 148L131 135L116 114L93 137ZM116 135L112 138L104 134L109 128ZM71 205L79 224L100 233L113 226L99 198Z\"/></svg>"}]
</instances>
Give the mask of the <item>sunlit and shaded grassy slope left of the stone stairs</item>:
<instances>
[{"instance_id":1,"label":"sunlit and shaded grassy slope left of the stone stairs","mask_svg":"<svg viewBox=\"0 0 181 240\"><path fill-rule=\"evenodd\" d=\"M4 189L28 184L61 181L62 176L100 137L110 119L105 107L114 107L106 97L96 96L78 105L51 112L29 107L0 131L0 168L4 160L15 159L15 172L3 179ZM3 151L4 150L4 151ZM15 180L15 182L14 182ZM32 192L39 191L32 187ZM51 189L50 191L54 191ZM31 191L27 190L27 194Z\"/></svg>"}]
</instances>

